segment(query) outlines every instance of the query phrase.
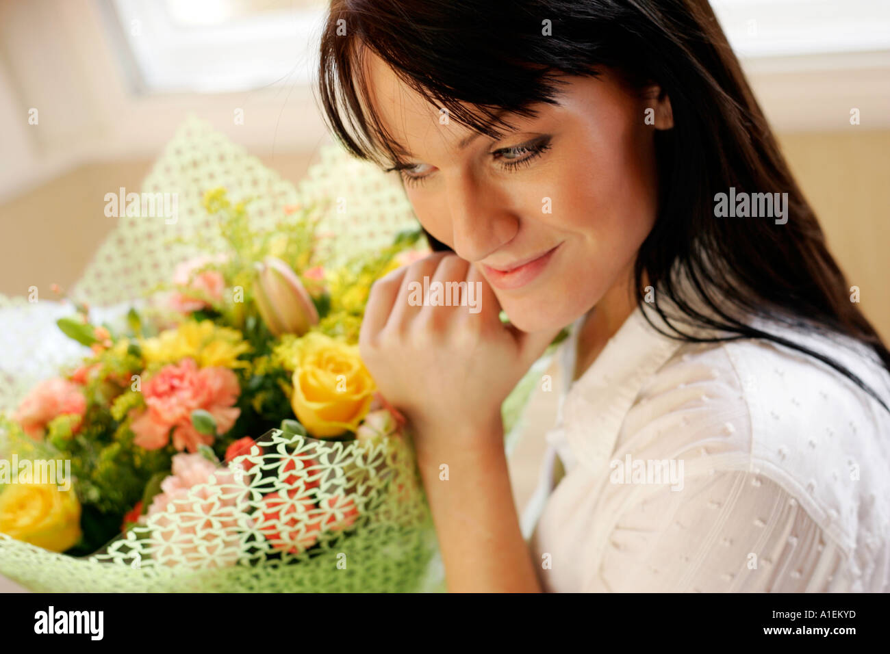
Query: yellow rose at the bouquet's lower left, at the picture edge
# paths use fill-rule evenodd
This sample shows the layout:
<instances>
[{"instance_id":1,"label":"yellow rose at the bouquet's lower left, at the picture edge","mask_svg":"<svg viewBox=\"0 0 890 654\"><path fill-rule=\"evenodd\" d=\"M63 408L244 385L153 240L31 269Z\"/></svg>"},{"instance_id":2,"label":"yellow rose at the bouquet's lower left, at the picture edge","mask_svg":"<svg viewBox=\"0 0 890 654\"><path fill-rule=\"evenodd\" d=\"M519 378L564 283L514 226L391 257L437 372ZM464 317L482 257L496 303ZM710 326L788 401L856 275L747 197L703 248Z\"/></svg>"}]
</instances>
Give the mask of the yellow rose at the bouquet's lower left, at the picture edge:
<instances>
[{"instance_id":1,"label":"yellow rose at the bouquet's lower left, at the picture edge","mask_svg":"<svg viewBox=\"0 0 890 654\"><path fill-rule=\"evenodd\" d=\"M80 540L80 503L55 484L9 484L0 492L0 532L64 552Z\"/></svg>"}]
</instances>

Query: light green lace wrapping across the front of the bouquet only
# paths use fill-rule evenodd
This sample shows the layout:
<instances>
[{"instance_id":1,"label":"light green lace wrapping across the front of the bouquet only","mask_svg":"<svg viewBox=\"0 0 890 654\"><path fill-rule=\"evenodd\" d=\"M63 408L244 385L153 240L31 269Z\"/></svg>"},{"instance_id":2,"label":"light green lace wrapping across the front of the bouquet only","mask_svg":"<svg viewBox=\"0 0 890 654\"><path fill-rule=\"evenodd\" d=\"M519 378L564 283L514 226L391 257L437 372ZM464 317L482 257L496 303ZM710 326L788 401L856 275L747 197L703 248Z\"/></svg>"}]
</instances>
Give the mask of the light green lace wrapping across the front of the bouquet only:
<instances>
[{"instance_id":1,"label":"light green lace wrapping across the front of the bouquet only","mask_svg":"<svg viewBox=\"0 0 890 654\"><path fill-rule=\"evenodd\" d=\"M91 556L0 535L0 573L54 593L425 590L436 542L409 440L258 442Z\"/></svg>"}]
</instances>

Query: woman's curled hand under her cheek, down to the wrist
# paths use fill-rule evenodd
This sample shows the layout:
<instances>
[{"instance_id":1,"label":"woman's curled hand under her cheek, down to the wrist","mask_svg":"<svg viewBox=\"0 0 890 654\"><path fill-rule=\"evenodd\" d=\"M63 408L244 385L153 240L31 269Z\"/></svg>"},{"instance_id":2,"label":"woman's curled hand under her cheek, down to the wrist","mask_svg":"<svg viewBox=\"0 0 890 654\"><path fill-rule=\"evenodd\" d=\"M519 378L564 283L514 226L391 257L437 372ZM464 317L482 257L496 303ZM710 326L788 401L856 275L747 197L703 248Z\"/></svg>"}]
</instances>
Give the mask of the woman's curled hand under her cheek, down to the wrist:
<instances>
[{"instance_id":1,"label":"woman's curled hand under her cheek, down to the wrist","mask_svg":"<svg viewBox=\"0 0 890 654\"><path fill-rule=\"evenodd\" d=\"M441 284L451 305L430 305L425 278L431 289ZM465 282L461 303L455 305L448 282ZM457 436L460 424L500 424L501 403L558 332L526 334L505 326L499 313L498 298L475 266L437 252L376 281L361 325L361 356L384 398L420 434Z\"/></svg>"}]
</instances>

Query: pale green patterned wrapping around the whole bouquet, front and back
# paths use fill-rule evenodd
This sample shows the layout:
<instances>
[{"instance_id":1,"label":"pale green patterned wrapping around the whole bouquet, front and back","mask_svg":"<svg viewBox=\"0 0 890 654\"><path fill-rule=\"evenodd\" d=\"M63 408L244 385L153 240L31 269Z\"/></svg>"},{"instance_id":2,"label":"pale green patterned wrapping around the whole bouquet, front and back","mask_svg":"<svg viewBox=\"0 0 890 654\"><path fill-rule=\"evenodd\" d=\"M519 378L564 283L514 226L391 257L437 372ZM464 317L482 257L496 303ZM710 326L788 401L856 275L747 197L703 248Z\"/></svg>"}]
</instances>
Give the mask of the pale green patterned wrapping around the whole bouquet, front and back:
<instances>
[{"instance_id":1,"label":"pale green patterned wrapping around the whole bouquet, front and back","mask_svg":"<svg viewBox=\"0 0 890 654\"><path fill-rule=\"evenodd\" d=\"M258 227L271 224L285 206L324 203L320 231L330 237L325 244L332 263L359 248L386 246L399 230L417 226L401 187L339 147L322 149L320 163L294 186L190 118L142 188L178 193L178 220L122 216L69 296L109 321L121 319L134 298L197 254L187 243L171 245L171 238L219 238L201 208L203 192L217 186L233 197L255 198L251 220ZM12 336L0 352L0 410L14 408L37 381L84 353L54 325L70 312L67 302L0 295L0 317ZM552 351L504 404L508 450ZM444 589L408 438L335 442L272 430L257 442L263 453L221 468L166 512L90 556L51 553L0 534L0 574L43 592Z\"/></svg>"}]
</instances>

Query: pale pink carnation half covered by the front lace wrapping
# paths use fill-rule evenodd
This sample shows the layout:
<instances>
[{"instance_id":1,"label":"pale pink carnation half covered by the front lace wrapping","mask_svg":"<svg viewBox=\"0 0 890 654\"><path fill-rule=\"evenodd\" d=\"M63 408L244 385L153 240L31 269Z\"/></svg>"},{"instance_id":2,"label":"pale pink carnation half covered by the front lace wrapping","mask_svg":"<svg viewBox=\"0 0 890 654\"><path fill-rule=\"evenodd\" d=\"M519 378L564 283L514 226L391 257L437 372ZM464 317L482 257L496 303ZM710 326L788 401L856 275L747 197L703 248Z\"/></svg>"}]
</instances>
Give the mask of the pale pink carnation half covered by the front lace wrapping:
<instances>
[{"instance_id":1,"label":"pale pink carnation half covered by the front lace wrapping","mask_svg":"<svg viewBox=\"0 0 890 654\"><path fill-rule=\"evenodd\" d=\"M247 486L199 454L175 455L172 468L139 519L150 526L152 557L166 565L201 568L235 563L241 533L253 528L245 513Z\"/></svg>"}]
</instances>

